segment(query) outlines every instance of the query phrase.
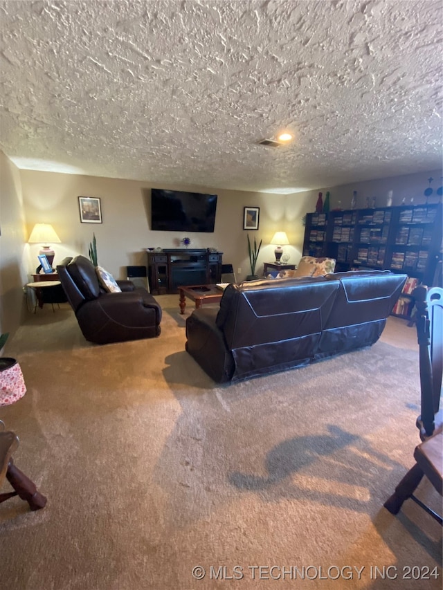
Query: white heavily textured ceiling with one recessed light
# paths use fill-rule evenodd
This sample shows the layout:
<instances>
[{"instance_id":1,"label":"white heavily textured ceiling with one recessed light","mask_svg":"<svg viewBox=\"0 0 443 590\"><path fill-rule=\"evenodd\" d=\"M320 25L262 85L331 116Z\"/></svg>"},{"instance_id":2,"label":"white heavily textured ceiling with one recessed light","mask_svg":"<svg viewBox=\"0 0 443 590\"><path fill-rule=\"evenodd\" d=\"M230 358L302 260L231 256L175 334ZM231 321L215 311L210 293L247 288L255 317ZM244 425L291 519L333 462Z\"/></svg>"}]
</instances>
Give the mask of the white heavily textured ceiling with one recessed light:
<instances>
[{"instance_id":1,"label":"white heavily textured ceiling with one recessed light","mask_svg":"<svg viewBox=\"0 0 443 590\"><path fill-rule=\"evenodd\" d=\"M437 169L442 6L3 0L0 145L21 168L239 190Z\"/></svg>"}]
</instances>

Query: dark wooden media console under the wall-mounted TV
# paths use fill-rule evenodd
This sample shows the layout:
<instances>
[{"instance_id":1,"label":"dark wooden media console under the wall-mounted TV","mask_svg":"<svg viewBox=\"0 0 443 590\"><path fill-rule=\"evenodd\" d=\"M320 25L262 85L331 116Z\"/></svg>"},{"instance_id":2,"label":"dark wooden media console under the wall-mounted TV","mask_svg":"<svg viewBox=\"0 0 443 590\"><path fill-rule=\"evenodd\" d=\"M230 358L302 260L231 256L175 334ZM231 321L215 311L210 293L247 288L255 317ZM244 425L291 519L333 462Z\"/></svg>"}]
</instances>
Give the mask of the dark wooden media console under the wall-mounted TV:
<instances>
[{"instance_id":1,"label":"dark wooden media console under the wall-mounted TV","mask_svg":"<svg viewBox=\"0 0 443 590\"><path fill-rule=\"evenodd\" d=\"M206 248L175 248L147 252L147 276L152 295L178 293L179 286L221 282L223 252Z\"/></svg>"}]
</instances>

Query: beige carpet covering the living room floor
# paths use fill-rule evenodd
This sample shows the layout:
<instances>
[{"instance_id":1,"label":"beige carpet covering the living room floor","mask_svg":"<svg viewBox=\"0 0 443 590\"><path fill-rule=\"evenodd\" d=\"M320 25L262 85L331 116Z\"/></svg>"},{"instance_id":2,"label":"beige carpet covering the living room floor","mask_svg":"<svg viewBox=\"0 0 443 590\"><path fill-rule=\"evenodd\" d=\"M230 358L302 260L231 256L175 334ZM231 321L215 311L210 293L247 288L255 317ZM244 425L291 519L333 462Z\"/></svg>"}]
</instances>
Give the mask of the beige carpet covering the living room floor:
<instances>
[{"instance_id":1,"label":"beige carpet covering the living room floor","mask_svg":"<svg viewBox=\"0 0 443 590\"><path fill-rule=\"evenodd\" d=\"M48 504L0 505L0 588L441 588L442 528L383 508L419 442L415 329L390 318L371 349L219 386L177 295L157 299L159 338L97 347L45 306L4 351L28 392L0 418Z\"/></svg>"}]
</instances>

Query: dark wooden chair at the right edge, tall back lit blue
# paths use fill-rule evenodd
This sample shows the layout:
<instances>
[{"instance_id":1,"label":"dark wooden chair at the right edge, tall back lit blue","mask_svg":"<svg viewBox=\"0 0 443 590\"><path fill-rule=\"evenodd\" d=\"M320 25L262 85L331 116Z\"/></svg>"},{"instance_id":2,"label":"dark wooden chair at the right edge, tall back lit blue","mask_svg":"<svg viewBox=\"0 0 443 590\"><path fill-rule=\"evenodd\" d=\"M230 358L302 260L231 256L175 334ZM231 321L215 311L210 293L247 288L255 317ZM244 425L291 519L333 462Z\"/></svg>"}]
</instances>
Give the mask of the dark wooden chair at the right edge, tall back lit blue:
<instances>
[{"instance_id":1,"label":"dark wooden chair at the right edge, tall back lit blue","mask_svg":"<svg viewBox=\"0 0 443 590\"><path fill-rule=\"evenodd\" d=\"M419 344L420 389L422 414L417 418L422 443L414 451L416 461L384 506L398 514L408 498L443 525L443 518L418 499L414 492L426 476L442 495L443 428L440 412L443 366L443 289L419 286L413 293L417 306L417 339Z\"/></svg>"}]
</instances>

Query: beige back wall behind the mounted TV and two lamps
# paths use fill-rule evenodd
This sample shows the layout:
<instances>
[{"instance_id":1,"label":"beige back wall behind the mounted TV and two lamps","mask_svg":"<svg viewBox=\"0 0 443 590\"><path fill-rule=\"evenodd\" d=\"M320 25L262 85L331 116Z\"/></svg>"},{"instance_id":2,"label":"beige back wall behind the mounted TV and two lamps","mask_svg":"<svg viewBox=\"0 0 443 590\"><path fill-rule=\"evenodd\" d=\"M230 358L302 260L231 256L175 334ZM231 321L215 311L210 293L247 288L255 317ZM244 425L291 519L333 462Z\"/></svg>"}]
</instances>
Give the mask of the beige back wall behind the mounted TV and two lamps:
<instances>
[{"instance_id":1,"label":"beige back wall behind the mounted TV and two lamps","mask_svg":"<svg viewBox=\"0 0 443 590\"><path fill-rule=\"evenodd\" d=\"M98 261L116 278L125 277L125 267L147 264L146 248L179 248L184 237L180 232L153 232L150 230L149 182L123 181L115 178L98 178L53 172L21 171L26 225L28 233L35 223L51 223L62 240L55 244L54 264L66 255L87 256L89 241L96 234ZM287 248L291 260L301 256L304 228L302 217L315 203L315 193L302 196L282 196L215 190L213 187L161 185L161 188L216 192L217 216L214 233L190 233L195 248L218 248L223 259L241 268L237 279L250 273L246 234L243 230L245 205L260 207L258 231L249 232L251 239L263 239L259 265L273 260L274 246L269 245L273 233L287 231L292 246ZM78 196L100 198L103 223L81 223ZM27 246L30 252L28 272L37 266L39 246ZM257 269L259 266L257 266Z\"/></svg>"}]
</instances>

